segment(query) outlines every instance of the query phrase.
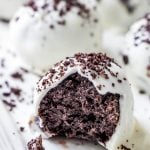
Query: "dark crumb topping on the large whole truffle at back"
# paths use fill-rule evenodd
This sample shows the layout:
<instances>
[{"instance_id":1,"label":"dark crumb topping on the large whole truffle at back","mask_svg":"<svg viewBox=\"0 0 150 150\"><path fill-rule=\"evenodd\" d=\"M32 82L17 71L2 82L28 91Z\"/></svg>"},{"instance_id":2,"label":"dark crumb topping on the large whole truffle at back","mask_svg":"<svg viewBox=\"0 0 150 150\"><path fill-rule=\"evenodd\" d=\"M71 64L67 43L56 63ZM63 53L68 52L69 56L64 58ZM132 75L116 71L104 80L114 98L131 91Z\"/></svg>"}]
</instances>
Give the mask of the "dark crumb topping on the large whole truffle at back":
<instances>
[{"instance_id":1,"label":"dark crumb topping on the large whole truffle at back","mask_svg":"<svg viewBox=\"0 0 150 150\"><path fill-rule=\"evenodd\" d=\"M96 3L98 4L100 0L95 0ZM60 4L64 3L63 7L60 8ZM57 25L65 26L67 24L67 20L65 19L65 16L70 13L74 8L77 9L76 14L81 17L83 20L88 20L94 24L97 24L99 19L98 18L93 18L92 12L91 11L96 11L97 6L95 5L92 8L88 8L86 4L79 0L47 0L44 2L43 5L39 6L36 2L36 0L30 0L27 2L25 7L30 7L32 10L36 13L39 10L42 10L45 15L49 15L52 12L57 12L59 19L56 20L56 22L53 20L53 22L46 22L48 23L48 26L50 29L55 29L55 23ZM34 14L31 16L34 17ZM44 18L44 17L43 17ZM91 19L92 18L92 19ZM16 18L16 21L18 21L20 18ZM81 25L82 27L82 25Z\"/></svg>"}]
</instances>

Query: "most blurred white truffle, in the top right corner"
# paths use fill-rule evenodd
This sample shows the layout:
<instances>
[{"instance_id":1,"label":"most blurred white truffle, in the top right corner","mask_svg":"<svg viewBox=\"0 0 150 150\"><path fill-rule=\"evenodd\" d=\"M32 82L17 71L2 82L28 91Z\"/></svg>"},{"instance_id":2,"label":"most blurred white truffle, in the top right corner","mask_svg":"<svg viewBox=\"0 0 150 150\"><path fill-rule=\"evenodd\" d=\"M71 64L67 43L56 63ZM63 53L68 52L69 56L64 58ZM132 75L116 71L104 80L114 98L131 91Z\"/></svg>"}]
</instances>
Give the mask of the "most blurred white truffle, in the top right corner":
<instances>
[{"instance_id":1,"label":"most blurred white truffle, in the top right corner","mask_svg":"<svg viewBox=\"0 0 150 150\"><path fill-rule=\"evenodd\" d=\"M137 18L150 11L148 0L101 0L101 21L104 27L127 29Z\"/></svg>"}]
</instances>

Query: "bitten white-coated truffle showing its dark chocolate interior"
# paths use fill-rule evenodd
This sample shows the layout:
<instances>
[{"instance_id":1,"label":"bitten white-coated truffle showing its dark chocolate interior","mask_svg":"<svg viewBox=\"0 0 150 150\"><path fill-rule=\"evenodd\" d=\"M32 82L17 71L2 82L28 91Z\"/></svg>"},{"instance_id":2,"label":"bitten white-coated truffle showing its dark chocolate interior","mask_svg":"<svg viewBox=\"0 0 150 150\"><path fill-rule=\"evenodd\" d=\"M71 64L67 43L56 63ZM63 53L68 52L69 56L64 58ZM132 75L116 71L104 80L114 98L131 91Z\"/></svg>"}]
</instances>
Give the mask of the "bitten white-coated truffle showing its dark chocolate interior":
<instances>
[{"instance_id":1,"label":"bitten white-coated truffle showing its dark chocolate interior","mask_svg":"<svg viewBox=\"0 0 150 150\"><path fill-rule=\"evenodd\" d=\"M36 123L49 137L121 148L133 129L133 98L123 69L102 53L78 53L55 64L37 84Z\"/></svg>"}]
</instances>

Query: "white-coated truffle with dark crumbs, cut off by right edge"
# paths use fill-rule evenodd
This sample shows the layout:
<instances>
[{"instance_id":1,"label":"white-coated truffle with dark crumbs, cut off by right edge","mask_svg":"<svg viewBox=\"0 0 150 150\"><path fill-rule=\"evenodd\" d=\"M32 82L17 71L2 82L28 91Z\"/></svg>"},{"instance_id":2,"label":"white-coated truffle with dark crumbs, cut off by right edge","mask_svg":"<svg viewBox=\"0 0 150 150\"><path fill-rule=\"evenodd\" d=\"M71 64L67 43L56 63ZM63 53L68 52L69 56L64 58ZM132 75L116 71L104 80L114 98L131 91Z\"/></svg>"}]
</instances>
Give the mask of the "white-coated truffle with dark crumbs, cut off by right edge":
<instances>
[{"instance_id":1,"label":"white-coated truffle with dark crumbs, cut off by right edge","mask_svg":"<svg viewBox=\"0 0 150 150\"><path fill-rule=\"evenodd\" d=\"M131 82L150 93L150 14L131 26L125 45L123 62Z\"/></svg>"}]
</instances>

